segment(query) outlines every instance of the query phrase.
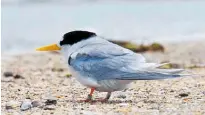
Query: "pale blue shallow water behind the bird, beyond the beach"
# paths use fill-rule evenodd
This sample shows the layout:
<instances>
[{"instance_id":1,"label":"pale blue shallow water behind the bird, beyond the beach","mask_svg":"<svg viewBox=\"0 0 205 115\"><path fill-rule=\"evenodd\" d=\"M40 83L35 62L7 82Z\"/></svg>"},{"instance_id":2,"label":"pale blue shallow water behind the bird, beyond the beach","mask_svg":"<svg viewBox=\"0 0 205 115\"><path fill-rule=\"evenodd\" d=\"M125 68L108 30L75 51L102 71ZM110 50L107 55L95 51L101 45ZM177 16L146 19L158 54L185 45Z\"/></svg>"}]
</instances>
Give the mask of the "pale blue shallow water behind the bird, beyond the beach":
<instances>
[{"instance_id":1,"label":"pale blue shallow water behind the bird, beyond the beach","mask_svg":"<svg viewBox=\"0 0 205 115\"><path fill-rule=\"evenodd\" d=\"M139 43L205 39L204 11L203 1L3 4L1 48L33 51L75 29Z\"/></svg>"}]
</instances>

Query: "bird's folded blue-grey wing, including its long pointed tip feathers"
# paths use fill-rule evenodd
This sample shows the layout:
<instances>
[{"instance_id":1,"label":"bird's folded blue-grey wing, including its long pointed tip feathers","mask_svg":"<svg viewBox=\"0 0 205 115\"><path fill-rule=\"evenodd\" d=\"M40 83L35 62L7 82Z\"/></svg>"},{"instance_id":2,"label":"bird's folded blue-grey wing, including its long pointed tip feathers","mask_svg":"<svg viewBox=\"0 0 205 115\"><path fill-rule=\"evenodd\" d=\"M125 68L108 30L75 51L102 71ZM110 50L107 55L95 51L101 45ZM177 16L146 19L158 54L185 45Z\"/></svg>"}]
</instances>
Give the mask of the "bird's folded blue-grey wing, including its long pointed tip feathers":
<instances>
[{"instance_id":1,"label":"bird's folded blue-grey wing, including its long pointed tip feathers","mask_svg":"<svg viewBox=\"0 0 205 115\"><path fill-rule=\"evenodd\" d=\"M152 80L178 75L142 69L147 65L142 55L114 44L93 45L75 53L70 65L79 73L96 80ZM143 67L144 68L144 67Z\"/></svg>"}]
</instances>

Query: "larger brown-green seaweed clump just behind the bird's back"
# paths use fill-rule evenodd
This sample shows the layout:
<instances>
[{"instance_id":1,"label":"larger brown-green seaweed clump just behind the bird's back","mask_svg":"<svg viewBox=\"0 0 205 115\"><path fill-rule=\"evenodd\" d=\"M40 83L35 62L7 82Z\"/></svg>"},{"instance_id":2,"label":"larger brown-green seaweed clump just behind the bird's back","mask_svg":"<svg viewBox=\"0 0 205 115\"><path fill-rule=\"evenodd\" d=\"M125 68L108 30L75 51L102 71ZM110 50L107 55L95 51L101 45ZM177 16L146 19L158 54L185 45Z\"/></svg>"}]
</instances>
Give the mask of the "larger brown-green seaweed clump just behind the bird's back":
<instances>
[{"instance_id":1,"label":"larger brown-green seaweed clump just behind the bird's back","mask_svg":"<svg viewBox=\"0 0 205 115\"><path fill-rule=\"evenodd\" d=\"M159 43L152 43L150 45L137 45L131 42L127 41L116 41L116 40L109 40L112 43L118 44L124 48L130 49L134 52L147 52L147 51L153 51L153 52L164 52L165 48Z\"/></svg>"}]
</instances>

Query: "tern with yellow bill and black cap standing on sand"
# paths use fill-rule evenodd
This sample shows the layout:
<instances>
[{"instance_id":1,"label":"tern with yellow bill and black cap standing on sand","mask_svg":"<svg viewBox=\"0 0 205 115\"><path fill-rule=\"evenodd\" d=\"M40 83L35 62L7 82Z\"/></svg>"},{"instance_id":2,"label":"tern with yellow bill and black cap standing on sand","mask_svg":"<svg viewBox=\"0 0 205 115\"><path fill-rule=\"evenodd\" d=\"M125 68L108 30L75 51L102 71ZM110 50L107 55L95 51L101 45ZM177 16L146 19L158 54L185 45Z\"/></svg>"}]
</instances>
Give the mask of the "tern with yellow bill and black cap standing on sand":
<instances>
[{"instance_id":1,"label":"tern with yellow bill and black cap standing on sand","mask_svg":"<svg viewBox=\"0 0 205 115\"><path fill-rule=\"evenodd\" d=\"M184 69L160 69L166 63L149 63L135 53L110 42L95 32L74 30L65 33L55 44L39 47L37 51L59 50L64 55L71 74L82 85L90 88L85 102L93 100L93 92L111 93L129 87L136 80L178 78Z\"/></svg>"}]
</instances>

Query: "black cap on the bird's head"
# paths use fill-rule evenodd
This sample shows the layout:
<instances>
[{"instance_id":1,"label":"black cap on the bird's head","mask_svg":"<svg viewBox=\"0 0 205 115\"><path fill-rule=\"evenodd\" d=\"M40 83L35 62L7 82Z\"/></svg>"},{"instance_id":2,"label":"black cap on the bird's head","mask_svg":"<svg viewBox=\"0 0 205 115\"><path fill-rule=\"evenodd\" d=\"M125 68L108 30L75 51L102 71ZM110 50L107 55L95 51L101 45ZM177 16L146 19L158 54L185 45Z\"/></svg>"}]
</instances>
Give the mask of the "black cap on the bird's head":
<instances>
[{"instance_id":1,"label":"black cap on the bird's head","mask_svg":"<svg viewBox=\"0 0 205 115\"><path fill-rule=\"evenodd\" d=\"M88 39L93 36L96 36L96 34L93 32L89 32L89 31L81 31L81 30L71 31L71 32L64 34L63 40L60 41L60 45L61 46L65 44L73 45L79 41Z\"/></svg>"}]
</instances>

